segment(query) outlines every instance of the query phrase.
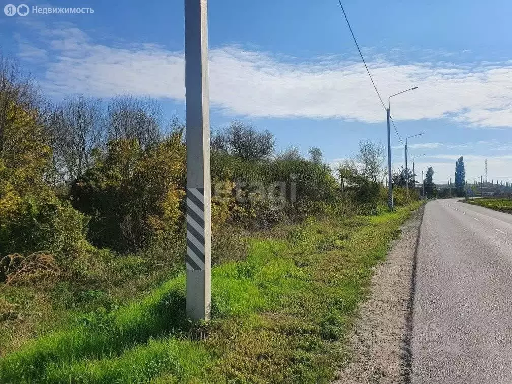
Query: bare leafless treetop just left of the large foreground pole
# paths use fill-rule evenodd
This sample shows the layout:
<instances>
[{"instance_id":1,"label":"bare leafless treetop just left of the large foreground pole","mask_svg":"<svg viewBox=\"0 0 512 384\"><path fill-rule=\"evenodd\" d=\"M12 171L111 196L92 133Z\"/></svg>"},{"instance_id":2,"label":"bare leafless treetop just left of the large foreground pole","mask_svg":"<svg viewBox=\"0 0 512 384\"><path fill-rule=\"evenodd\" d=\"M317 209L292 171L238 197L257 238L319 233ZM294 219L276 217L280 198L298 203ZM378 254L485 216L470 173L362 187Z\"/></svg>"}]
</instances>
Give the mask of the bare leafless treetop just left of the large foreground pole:
<instances>
[{"instance_id":1,"label":"bare leafless treetop just left of the large foreground pole","mask_svg":"<svg viewBox=\"0 0 512 384\"><path fill-rule=\"evenodd\" d=\"M110 101L105 127L109 140L137 139L146 149L160 140L162 121L162 110L156 100L123 94Z\"/></svg>"}]
</instances>

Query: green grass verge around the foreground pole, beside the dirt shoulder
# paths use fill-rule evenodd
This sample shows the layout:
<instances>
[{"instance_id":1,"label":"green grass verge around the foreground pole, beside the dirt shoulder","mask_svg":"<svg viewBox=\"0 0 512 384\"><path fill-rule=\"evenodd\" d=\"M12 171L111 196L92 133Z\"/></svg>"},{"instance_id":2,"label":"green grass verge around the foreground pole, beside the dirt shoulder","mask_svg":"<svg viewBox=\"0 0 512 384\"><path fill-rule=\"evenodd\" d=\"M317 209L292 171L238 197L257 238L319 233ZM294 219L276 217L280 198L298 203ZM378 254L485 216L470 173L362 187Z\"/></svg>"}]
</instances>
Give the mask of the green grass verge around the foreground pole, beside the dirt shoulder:
<instances>
[{"instance_id":1,"label":"green grass verge around the foreground pole, beside the dirt shoulder","mask_svg":"<svg viewBox=\"0 0 512 384\"><path fill-rule=\"evenodd\" d=\"M372 267L419 205L255 238L247 261L213 269L210 322L187 319L180 275L31 340L0 360L0 381L327 382Z\"/></svg>"}]
</instances>

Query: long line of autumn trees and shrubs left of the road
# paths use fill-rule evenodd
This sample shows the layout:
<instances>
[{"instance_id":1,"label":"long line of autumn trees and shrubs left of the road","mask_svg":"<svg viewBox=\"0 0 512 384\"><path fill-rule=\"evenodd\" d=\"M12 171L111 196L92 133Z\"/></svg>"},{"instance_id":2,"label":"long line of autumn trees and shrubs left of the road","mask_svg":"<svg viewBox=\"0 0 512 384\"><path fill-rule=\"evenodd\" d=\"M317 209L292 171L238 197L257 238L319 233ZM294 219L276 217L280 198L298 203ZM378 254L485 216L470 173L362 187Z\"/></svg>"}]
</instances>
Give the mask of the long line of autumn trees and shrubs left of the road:
<instances>
[{"instance_id":1,"label":"long line of autumn trees and shrubs left of the road","mask_svg":"<svg viewBox=\"0 0 512 384\"><path fill-rule=\"evenodd\" d=\"M381 143L361 142L333 170L319 148L308 157L296 147L276 151L275 137L251 123L233 121L210 142L214 263L242 257L240 230L386 207ZM272 189L275 182L285 188ZM186 126L165 120L158 101L122 94L52 104L16 61L0 57L4 286L52 291L62 283L79 292L179 268L185 186ZM397 186L397 205L418 197ZM278 200L285 203L276 209Z\"/></svg>"}]
</instances>

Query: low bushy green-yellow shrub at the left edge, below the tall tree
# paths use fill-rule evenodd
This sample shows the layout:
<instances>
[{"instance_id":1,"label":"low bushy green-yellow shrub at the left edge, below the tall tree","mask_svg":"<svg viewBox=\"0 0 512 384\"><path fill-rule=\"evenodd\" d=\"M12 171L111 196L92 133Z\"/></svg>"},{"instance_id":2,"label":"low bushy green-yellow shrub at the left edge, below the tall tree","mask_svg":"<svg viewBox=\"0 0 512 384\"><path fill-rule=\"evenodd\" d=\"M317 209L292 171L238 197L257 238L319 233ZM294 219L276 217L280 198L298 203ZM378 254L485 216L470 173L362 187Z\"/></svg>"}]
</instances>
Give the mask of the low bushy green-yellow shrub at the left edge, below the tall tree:
<instances>
[{"instance_id":1,"label":"low bushy green-yellow shrub at the left edge, below the tall tree","mask_svg":"<svg viewBox=\"0 0 512 384\"><path fill-rule=\"evenodd\" d=\"M89 218L60 201L42 180L20 179L23 174L23 167L0 167L0 257L18 254L14 259L28 263L30 274L36 266L48 274L50 269L44 265L55 260L60 269L71 268L59 276L78 278L80 273L72 266L96 251L85 238ZM87 270L87 266L81 268Z\"/></svg>"}]
</instances>

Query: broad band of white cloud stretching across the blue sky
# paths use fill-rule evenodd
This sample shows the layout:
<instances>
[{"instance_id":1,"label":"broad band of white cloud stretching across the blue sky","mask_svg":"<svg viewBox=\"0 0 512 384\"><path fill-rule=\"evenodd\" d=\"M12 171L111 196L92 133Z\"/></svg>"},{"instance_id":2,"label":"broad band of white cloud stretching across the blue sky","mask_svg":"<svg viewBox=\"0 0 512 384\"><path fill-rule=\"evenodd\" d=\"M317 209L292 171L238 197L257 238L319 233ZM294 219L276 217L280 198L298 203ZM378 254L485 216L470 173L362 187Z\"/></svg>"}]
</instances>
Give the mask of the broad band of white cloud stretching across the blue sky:
<instances>
[{"instance_id":1,"label":"broad band of white cloud stretching across the blue sky","mask_svg":"<svg viewBox=\"0 0 512 384\"><path fill-rule=\"evenodd\" d=\"M152 44L99 44L66 26L42 33L51 50L43 86L56 95L110 97L123 91L184 99L184 56ZM42 55L37 47L22 47ZM512 126L512 62L369 63L395 119L450 118L475 127ZM371 61L371 60L370 60ZM325 55L308 62L227 46L210 50L210 100L227 115L386 119L362 64Z\"/></svg>"}]
</instances>

